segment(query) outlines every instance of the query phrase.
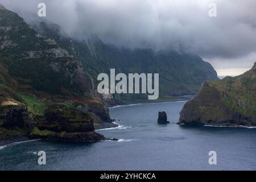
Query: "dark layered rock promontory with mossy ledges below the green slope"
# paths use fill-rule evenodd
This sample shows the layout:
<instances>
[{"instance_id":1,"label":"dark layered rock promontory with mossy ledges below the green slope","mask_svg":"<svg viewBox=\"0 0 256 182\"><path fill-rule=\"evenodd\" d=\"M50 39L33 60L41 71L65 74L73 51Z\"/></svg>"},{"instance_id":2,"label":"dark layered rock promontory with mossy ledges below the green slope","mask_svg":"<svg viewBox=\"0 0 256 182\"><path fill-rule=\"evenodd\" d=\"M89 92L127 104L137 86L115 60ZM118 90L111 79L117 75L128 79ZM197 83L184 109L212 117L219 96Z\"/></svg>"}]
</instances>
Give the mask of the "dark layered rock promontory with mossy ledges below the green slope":
<instances>
[{"instance_id":1,"label":"dark layered rock promontory with mossy ledges below the green slope","mask_svg":"<svg viewBox=\"0 0 256 182\"><path fill-rule=\"evenodd\" d=\"M32 139L59 140L64 142L94 142L105 137L94 131L93 114L82 103L71 105L51 105L37 122L27 123L32 129Z\"/></svg>"}]
</instances>

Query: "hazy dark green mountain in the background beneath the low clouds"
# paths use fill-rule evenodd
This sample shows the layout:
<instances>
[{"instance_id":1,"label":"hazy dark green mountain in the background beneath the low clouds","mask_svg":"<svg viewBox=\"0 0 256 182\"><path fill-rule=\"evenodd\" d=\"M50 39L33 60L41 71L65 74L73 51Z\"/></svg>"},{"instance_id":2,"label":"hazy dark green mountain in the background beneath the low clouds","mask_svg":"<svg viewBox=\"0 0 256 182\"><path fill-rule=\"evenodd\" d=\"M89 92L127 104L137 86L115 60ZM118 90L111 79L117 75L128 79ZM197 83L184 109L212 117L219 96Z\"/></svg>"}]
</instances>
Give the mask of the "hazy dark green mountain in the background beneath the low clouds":
<instances>
[{"instance_id":1,"label":"hazy dark green mountain in the background beneath the low clouds","mask_svg":"<svg viewBox=\"0 0 256 182\"><path fill-rule=\"evenodd\" d=\"M177 53L174 51L154 51L152 49L117 48L105 44L97 36L86 40L74 40L54 23L33 24L41 35L56 40L69 52L80 58L81 64L97 86L100 73L159 73L160 99L172 96L196 94L201 84L207 80L218 80L212 65L198 55ZM147 100L144 94L114 94L114 101Z\"/></svg>"}]
</instances>

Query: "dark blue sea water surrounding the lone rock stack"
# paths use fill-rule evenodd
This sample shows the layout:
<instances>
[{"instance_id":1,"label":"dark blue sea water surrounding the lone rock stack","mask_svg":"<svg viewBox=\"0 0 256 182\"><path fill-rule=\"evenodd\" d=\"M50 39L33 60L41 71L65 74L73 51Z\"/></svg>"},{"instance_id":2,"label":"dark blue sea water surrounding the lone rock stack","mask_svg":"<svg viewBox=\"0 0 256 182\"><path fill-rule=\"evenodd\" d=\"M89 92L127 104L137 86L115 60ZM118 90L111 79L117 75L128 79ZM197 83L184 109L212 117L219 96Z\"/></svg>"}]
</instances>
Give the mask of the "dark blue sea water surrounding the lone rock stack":
<instances>
[{"instance_id":1,"label":"dark blue sea water surrounding the lone rock stack","mask_svg":"<svg viewBox=\"0 0 256 182\"><path fill-rule=\"evenodd\" d=\"M118 142L60 143L37 140L0 147L0 169L24 170L255 170L256 129L180 126L185 102L110 108L119 127L99 130ZM168 125L158 125L166 111ZM38 151L46 152L39 165ZM208 163L216 151L217 164Z\"/></svg>"}]
</instances>

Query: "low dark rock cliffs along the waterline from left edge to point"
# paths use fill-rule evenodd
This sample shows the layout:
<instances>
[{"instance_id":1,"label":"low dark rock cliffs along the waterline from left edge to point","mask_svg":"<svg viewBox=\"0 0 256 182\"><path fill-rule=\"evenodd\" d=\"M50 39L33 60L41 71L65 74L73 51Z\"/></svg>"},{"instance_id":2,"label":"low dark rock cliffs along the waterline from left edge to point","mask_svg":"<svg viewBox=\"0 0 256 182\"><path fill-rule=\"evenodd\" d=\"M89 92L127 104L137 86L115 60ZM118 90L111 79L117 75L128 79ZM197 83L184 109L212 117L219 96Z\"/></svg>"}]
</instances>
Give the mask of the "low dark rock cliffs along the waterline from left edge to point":
<instances>
[{"instance_id":1,"label":"low dark rock cliffs along the waterline from left edge to point","mask_svg":"<svg viewBox=\"0 0 256 182\"><path fill-rule=\"evenodd\" d=\"M17 101L4 101L0 105L0 139L20 136L32 139L65 142L94 142L106 139L94 131L94 113L82 103L47 105L43 115L34 115L27 106ZM11 130L11 131L9 131Z\"/></svg>"}]
</instances>

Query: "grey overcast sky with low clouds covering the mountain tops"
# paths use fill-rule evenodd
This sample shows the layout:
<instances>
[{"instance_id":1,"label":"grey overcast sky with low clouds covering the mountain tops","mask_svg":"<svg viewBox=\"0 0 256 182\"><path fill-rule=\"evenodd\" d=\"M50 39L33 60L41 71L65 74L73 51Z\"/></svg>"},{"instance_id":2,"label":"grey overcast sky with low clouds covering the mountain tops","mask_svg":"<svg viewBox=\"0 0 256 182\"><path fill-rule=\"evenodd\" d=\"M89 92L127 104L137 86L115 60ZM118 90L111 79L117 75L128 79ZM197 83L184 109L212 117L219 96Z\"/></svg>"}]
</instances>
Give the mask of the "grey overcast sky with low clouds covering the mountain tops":
<instances>
[{"instance_id":1,"label":"grey overcast sky with low clouds covering the mountain tops","mask_svg":"<svg viewBox=\"0 0 256 182\"><path fill-rule=\"evenodd\" d=\"M0 0L26 20L38 3L70 36L106 43L198 53L218 75L238 75L256 61L255 0ZM210 3L217 17L210 17Z\"/></svg>"}]
</instances>

